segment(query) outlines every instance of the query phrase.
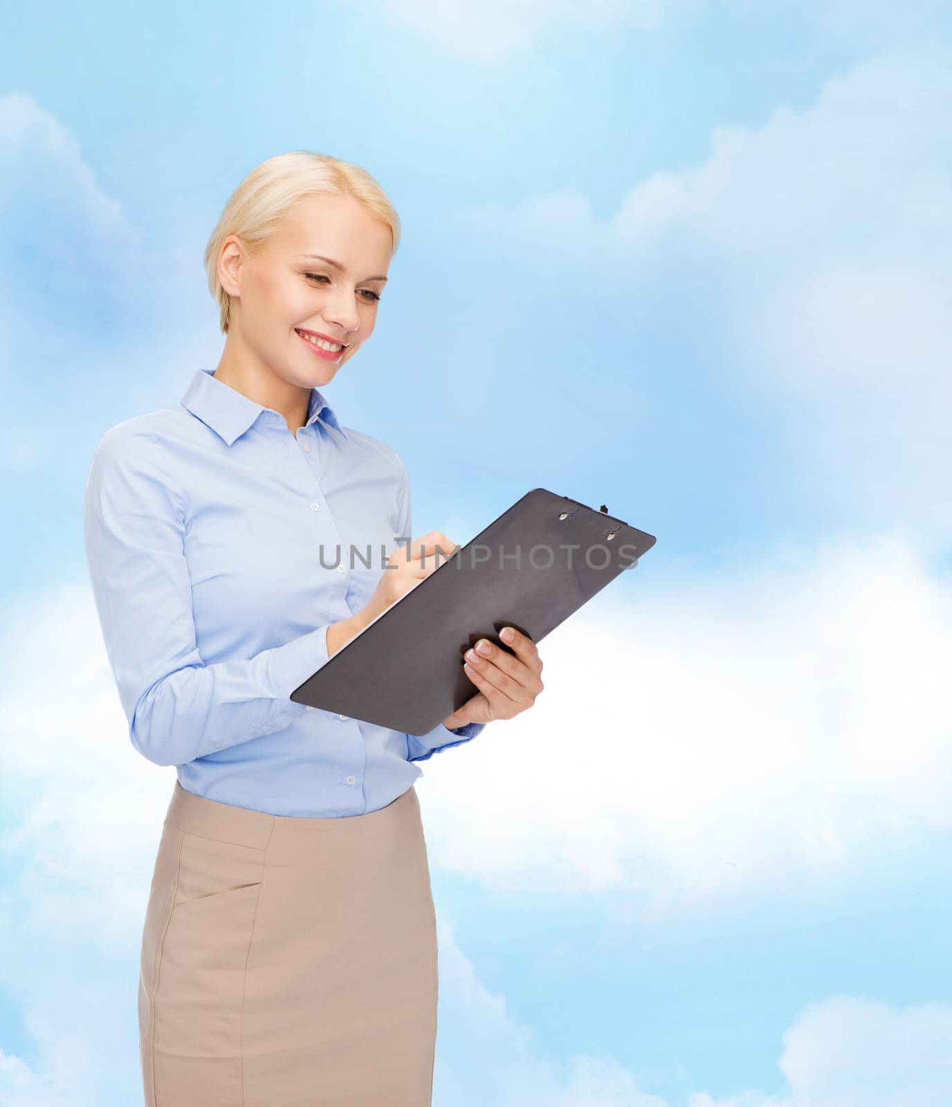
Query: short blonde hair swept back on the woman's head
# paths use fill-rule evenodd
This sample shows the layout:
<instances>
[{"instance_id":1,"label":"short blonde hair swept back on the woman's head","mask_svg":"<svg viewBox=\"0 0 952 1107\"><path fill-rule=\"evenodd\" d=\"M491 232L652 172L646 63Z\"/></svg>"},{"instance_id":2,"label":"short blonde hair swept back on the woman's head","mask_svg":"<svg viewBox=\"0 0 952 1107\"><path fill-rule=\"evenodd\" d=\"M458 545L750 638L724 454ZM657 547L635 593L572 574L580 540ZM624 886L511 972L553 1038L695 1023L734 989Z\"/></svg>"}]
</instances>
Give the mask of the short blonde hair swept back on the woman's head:
<instances>
[{"instance_id":1,"label":"short blonde hair swept back on the woman's head","mask_svg":"<svg viewBox=\"0 0 952 1107\"><path fill-rule=\"evenodd\" d=\"M205 247L208 289L218 301L219 329L228 331L231 297L218 279L218 258L229 235L237 235L249 251L258 249L281 220L306 196L323 193L351 196L370 215L390 226L393 254L400 246L400 216L377 182L359 165L330 154L297 149L257 165L228 197Z\"/></svg>"}]
</instances>

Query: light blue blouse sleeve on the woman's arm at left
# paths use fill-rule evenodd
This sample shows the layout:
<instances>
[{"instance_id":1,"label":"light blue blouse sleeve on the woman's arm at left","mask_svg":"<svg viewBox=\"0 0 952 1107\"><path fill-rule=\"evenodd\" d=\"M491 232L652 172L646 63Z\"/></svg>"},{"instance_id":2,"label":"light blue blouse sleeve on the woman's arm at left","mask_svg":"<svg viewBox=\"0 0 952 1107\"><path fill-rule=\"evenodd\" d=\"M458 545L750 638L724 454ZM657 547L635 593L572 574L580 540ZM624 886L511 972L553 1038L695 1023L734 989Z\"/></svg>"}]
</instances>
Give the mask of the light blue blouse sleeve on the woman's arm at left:
<instances>
[{"instance_id":1,"label":"light blue blouse sleeve on the woman's arm at left","mask_svg":"<svg viewBox=\"0 0 952 1107\"><path fill-rule=\"evenodd\" d=\"M303 714L290 694L327 662L331 623L247 660L206 664L180 494L155 435L121 426L100 441L86 480L86 560L132 744L156 765L183 765Z\"/></svg>"}]
</instances>

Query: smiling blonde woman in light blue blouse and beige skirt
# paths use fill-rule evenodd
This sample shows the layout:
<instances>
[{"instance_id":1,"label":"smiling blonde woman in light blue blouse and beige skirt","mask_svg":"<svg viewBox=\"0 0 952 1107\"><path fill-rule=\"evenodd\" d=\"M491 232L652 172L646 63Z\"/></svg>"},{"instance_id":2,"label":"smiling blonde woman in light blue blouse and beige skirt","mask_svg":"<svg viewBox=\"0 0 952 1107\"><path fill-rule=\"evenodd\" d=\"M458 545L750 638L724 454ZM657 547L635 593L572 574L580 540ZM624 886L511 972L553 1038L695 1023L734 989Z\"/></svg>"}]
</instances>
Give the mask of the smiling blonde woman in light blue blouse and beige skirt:
<instances>
[{"instance_id":1,"label":"smiling blonde woman in light blue blouse and beige skirt","mask_svg":"<svg viewBox=\"0 0 952 1107\"><path fill-rule=\"evenodd\" d=\"M431 1101L413 763L529 707L542 663L515 631L515 654L469 651L475 694L422 737L290 699L454 547L408 541L401 458L318 390L373 333L399 239L362 168L259 165L206 250L217 369L111 427L92 463L86 555L130 737L177 776L142 943L148 1107ZM412 402L408 376L384 386ZM386 572L365 565L382 546Z\"/></svg>"}]
</instances>

